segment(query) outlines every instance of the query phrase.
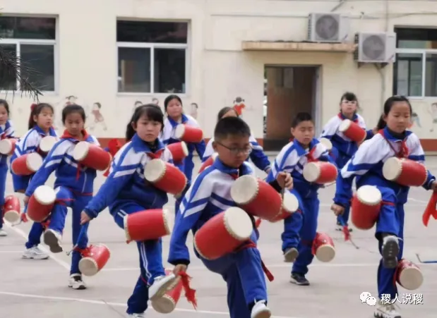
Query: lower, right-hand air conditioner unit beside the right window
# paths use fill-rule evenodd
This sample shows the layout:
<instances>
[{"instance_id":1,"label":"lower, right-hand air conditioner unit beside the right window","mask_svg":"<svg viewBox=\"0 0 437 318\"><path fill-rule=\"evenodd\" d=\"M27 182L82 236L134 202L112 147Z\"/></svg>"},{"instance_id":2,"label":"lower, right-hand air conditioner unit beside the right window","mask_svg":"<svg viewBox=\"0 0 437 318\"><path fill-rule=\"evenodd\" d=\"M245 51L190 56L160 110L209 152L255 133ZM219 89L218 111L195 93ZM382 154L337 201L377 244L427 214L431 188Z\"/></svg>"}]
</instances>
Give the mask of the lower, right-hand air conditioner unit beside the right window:
<instances>
[{"instance_id":1,"label":"lower, right-hand air conditioner unit beside the right window","mask_svg":"<svg viewBox=\"0 0 437 318\"><path fill-rule=\"evenodd\" d=\"M396 60L396 33L359 32L355 60L359 63L394 63Z\"/></svg>"}]
</instances>

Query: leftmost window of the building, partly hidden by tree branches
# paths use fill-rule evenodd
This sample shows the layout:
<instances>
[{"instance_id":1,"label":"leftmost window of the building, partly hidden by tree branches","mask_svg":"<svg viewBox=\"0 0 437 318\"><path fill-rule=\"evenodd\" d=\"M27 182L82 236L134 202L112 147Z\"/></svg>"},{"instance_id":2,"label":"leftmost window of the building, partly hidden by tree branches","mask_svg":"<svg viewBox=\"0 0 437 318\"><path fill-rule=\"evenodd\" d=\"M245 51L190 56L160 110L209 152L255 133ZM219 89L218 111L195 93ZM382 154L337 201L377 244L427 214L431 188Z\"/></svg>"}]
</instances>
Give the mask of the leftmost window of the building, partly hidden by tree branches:
<instances>
[{"instance_id":1,"label":"leftmost window of the building, partly hidden by tree branches","mask_svg":"<svg viewBox=\"0 0 437 318\"><path fill-rule=\"evenodd\" d=\"M0 16L0 47L19 59L20 75L42 91L54 92L56 18ZM15 74L0 71L4 90L18 90Z\"/></svg>"}]
</instances>

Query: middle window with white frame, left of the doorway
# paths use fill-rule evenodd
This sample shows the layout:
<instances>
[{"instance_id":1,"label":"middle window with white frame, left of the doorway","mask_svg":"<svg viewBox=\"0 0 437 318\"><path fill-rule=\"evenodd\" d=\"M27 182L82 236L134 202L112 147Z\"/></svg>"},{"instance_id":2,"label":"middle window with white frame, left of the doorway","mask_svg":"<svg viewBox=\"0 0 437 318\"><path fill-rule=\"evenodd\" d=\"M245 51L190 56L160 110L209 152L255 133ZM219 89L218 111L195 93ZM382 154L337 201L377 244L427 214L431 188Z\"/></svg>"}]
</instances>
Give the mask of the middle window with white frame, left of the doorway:
<instances>
[{"instance_id":1,"label":"middle window with white frame, left of the doorway","mask_svg":"<svg viewBox=\"0 0 437 318\"><path fill-rule=\"evenodd\" d=\"M118 87L127 93L185 93L188 23L117 21Z\"/></svg>"}]
</instances>

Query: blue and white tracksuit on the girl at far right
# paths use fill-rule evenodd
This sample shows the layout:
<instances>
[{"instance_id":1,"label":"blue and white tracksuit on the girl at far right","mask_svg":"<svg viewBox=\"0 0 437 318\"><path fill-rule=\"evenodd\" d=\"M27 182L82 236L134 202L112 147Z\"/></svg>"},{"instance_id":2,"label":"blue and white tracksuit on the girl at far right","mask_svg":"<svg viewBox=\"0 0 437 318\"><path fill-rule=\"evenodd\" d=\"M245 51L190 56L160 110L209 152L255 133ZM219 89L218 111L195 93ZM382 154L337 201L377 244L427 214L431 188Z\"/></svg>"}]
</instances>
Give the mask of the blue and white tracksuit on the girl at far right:
<instances>
[{"instance_id":1,"label":"blue and white tracksuit on the girl at far right","mask_svg":"<svg viewBox=\"0 0 437 318\"><path fill-rule=\"evenodd\" d=\"M402 145L404 147L402 147ZM393 148L392 148L393 147ZM405 151L401 149L404 148ZM403 238L404 238L404 204L407 202L409 187L405 187L387 181L383 177L382 169L384 162L390 157L407 157L414 161L424 162L424 150L421 147L419 137L411 131L405 132L404 136L395 136L388 128L383 130L383 135L378 133L371 140L366 140L357 150L351 160L347 162L341 171L341 178L337 180L337 191L334 202L349 207L352 198L352 180L357 176L357 188L362 185L375 185L382 194L383 204L376 221L376 238L381 252L382 233L390 233L400 238L400 251L397 259L402 259ZM428 178L424 188L429 190L435 177L428 172ZM378 267L378 293L390 294L395 300L397 287L393 283L395 269L383 267L382 260Z\"/></svg>"}]
</instances>

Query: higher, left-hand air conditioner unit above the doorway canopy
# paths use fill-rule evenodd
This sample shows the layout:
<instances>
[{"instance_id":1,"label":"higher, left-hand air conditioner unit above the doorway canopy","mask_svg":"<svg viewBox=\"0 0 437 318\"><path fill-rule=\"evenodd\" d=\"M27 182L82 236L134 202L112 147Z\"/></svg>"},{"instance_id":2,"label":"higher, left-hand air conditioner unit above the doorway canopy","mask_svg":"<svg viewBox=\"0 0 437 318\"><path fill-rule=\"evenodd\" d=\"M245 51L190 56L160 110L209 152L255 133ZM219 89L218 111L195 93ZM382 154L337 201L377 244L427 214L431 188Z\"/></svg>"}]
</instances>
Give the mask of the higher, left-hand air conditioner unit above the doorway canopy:
<instances>
[{"instance_id":1,"label":"higher, left-hand air conditioner unit above the doorway canopy","mask_svg":"<svg viewBox=\"0 0 437 318\"><path fill-rule=\"evenodd\" d=\"M338 13L310 13L308 40L310 42L344 42L349 34L349 18Z\"/></svg>"}]
</instances>

